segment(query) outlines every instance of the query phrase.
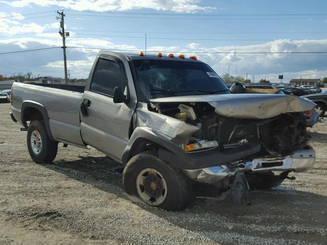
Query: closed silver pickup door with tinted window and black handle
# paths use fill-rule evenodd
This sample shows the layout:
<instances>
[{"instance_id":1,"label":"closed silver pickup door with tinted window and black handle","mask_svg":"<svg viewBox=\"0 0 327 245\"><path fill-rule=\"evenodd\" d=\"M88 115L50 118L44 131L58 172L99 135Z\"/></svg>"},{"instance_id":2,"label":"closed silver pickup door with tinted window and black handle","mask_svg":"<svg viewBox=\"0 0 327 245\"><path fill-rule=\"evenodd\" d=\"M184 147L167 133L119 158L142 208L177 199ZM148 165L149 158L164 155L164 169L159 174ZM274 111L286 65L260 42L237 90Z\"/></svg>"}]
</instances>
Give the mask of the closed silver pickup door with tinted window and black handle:
<instances>
[{"instance_id":1,"label":"closed silver pickup door with tinted window and black handle","mask_svg":"<svg viewBox=\"0 0 327 245\"><path fill-rule=\"evenodd\" d=\"M85 113L81 114L81 135L86 144L121 161L135 105L113 103L116 86L128 91L125 66L117 57L102 55L83 94L81 107Z\"/></svg>"}]
</instances>

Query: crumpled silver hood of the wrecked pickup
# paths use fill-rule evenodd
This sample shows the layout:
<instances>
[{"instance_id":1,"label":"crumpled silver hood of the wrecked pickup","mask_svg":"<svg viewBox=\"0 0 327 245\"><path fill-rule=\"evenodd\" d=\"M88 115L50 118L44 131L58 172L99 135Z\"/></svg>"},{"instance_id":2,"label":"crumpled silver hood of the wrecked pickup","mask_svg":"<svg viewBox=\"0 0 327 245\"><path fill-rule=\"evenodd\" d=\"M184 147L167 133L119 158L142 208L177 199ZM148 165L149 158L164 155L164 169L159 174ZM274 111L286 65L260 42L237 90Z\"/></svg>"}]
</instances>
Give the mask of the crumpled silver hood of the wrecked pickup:
<instances>
[{"instance_id":1,"label":"crumpled silver hood of the wrecked pickup","mask_svg":"<svg viewBox=\"0 0 327 245\"><path fill-rule=\"evenodd\" d=\"M210 94L163 97L150 100L160 103L206 102L219 115L233 118L264 119L288 112L309 111L316 104L284 94Z\"/></svg>"}]
</instances>

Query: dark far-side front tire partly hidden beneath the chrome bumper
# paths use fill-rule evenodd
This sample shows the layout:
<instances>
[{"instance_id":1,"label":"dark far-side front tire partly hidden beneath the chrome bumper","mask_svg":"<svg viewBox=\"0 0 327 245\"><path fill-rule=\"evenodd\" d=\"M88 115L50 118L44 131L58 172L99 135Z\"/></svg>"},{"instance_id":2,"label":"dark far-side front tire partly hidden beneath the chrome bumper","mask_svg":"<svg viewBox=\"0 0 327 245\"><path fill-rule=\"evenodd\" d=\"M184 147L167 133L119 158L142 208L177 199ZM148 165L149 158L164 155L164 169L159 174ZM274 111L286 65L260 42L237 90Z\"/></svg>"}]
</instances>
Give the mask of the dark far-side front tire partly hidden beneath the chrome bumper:
<instances>
[{"instance_id":1,"label":"dark far-side front tire partly hidden beneath the chrome bumper","mask_svg":"<svg viewBox=\"0 0 327 245\"><path fill-rule=\"evenodd\" d=\"M281 185L284 179L280 179L274 174L253 174L246 176L250 189L270 189Z\"/></svg>"}]
</instances>

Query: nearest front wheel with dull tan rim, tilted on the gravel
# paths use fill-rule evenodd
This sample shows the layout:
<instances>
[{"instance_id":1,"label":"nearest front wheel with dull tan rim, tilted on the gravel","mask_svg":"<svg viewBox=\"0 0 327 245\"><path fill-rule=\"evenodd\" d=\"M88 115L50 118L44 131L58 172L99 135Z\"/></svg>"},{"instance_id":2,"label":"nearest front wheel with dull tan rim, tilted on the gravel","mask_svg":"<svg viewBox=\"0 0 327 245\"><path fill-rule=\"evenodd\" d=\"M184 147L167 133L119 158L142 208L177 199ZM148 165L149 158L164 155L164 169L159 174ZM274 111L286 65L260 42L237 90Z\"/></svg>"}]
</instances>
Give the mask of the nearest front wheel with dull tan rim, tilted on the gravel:
<instances>
[{"instance_id":1,"label":"nearest front wheel with dull tan rim, tilted on the gravel","mask_svg":"<svg viewBox=\"0 0 327 245\"><path fill-rule=\"evenodd\" d=\"M191 181L152 152L129 160L123 171L123 185L131 201L166 210L182 210L193 197Z\"/></svg>"}]
</instances>

